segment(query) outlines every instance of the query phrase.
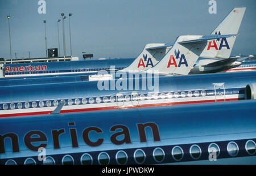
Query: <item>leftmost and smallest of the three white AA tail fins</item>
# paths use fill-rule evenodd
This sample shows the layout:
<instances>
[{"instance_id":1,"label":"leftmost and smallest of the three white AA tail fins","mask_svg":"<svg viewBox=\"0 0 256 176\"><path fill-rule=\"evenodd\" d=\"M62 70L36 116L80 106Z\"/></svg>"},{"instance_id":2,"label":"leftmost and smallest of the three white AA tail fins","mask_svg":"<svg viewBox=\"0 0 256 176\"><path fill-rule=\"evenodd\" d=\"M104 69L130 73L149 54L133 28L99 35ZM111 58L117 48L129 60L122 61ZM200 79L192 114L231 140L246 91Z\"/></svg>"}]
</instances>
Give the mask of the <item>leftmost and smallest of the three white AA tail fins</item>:
<instances>
[{"instance_id":1,"label":"leftmost and smallest of the three white AA tail fins","mask_svg":"<svg viewBox=\"0 0 256 176\"><path fill-rule=\"evenodd\" d=\"M154 67L171 47L172 45L168 44L147 44L134 62L120 71L143 71Z\"/></svg>"}]
</instances>

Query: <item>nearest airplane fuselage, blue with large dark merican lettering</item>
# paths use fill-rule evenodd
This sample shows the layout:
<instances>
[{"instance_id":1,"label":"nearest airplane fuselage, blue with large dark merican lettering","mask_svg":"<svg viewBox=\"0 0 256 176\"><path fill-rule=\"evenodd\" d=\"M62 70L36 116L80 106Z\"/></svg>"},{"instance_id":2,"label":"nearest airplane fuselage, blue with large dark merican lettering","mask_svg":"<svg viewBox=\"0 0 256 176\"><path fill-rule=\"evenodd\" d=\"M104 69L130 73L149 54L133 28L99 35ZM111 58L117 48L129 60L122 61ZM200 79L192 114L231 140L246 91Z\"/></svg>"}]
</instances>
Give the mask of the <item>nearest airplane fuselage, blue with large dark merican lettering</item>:
<instances>
[{"instance_id":1,"label":"nearest airplane fuselage, blue with large dark merican lettering","mask_svg":"<svg viewBox=\"0 0 256 176\"><path fill-rule=\"evenodd\" d=\"M255 107L244 100L0 118L0 164L256 164Z\"/></svg>"}]
</instances>

